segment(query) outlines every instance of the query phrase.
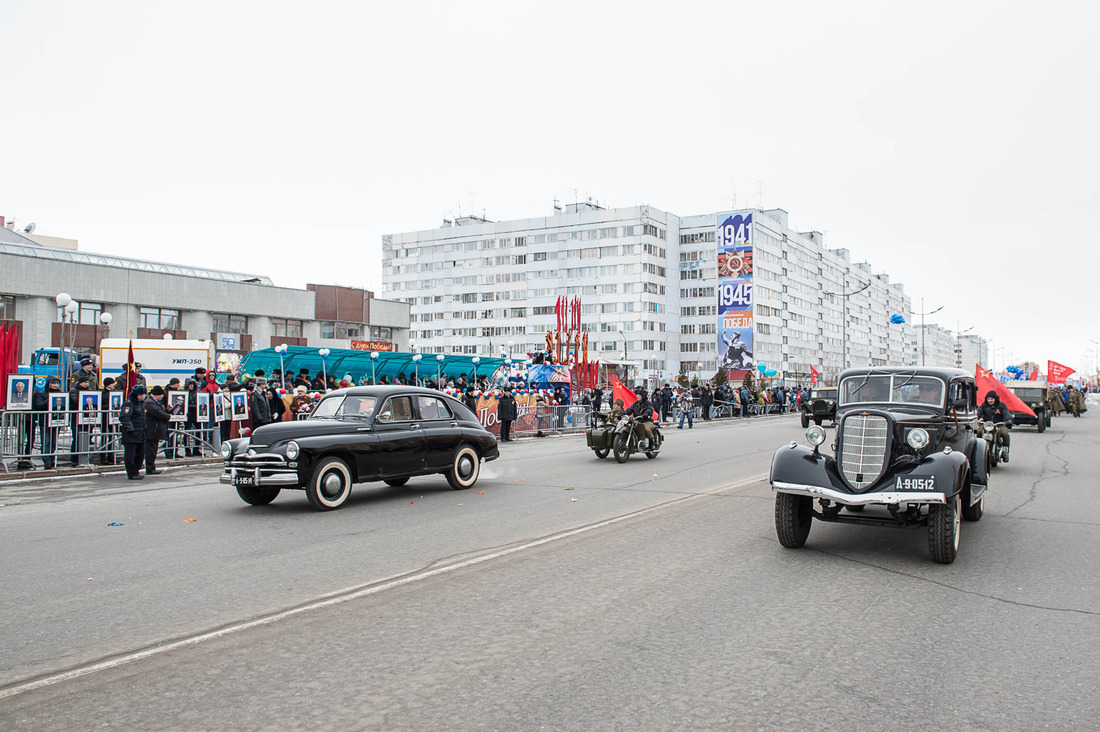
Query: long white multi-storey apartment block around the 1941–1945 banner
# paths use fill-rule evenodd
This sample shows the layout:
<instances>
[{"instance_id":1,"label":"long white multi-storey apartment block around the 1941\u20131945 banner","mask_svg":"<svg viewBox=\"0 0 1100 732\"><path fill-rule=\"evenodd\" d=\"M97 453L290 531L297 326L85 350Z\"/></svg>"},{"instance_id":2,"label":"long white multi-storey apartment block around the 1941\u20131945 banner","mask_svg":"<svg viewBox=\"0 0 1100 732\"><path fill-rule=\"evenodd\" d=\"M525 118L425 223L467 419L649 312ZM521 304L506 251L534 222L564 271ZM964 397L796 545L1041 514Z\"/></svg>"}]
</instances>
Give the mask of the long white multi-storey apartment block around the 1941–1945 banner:
<instances>
[{"instance_id":1,"label":"long white multi-storey apartment block around the 1941\u20131945 banner","mask_svg":"<svg viewBox=\"0 0 1100 732\"><path fill-rule=\"evenodd\" d=\"M752 210L754 361L805 380L850 365L912 361L910 297L781 209ZM717 233L726 214L679 217L591 203L513 221L465 217L383 238L384 289L413 308L425 352L526 353L556 327L561 295L582 298L590 358L628 361L649 382L718 369ZM752 269L755 267L755 272ZM847 339L847 347L845 340Z\"/></svg>"}]
</instances>

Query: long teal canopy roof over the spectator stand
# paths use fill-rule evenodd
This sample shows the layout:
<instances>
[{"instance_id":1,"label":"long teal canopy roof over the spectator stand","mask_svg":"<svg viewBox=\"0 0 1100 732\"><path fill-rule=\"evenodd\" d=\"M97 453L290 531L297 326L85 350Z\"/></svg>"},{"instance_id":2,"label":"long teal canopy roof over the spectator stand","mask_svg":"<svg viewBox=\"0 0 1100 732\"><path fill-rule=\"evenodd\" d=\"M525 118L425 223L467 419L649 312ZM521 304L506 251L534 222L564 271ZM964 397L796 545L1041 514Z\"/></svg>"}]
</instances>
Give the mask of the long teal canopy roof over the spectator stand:
<instances>
[{"instance_id":1,"label":"long teal canopy roof over the spectator stand","mask_svg":"<svg viewBox=\"0 0 1100 732\"><path fill-rule=\"evenodd\" d=\"M287 347L286 356L283 357L282 369L284 373L296 376L301 369L309 369L309 376L312 379L321 373L321 357L318 349L309 346ZM447 353L442 361L437 361L436 353L421 353L422 361L419 368L413 361L416 353L404 353L399 351L378 351L378 358L374 361L374 374L377 379L385 376L393 381L395 376L402 375L409 379L415 373L419 373L421 379L436 379L436 367L447 379L457 379L465 374L470 379L474 372L479 375L491 375L494 371L504 365L504 359L490 357L460 356ZM479 363L473 359L480 358ZM241 373L254 374L256 369L263 369L271 373L279 368L279 357L274 348L265 348L260 351L252 351L241 359ZM333 348L324 359L324 370L330 376L336 376L337 381L343 379L344 374L351 374L358 383L364 376L371 378L371 353L370 351L353 351L351 349Z\"/></svg>"}]
</instances>

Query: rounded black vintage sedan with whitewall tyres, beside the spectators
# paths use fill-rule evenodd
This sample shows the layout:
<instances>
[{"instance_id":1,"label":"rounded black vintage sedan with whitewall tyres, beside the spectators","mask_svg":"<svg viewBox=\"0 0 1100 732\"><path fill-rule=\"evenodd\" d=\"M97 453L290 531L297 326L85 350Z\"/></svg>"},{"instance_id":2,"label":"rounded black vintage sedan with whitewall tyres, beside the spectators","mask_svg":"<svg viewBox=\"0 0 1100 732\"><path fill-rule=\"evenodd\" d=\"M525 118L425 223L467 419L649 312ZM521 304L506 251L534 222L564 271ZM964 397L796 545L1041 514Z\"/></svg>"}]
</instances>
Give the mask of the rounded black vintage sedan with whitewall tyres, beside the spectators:
<instances>
[{"instance_id":1,"label":"rounded black vintage sedan with whitewall tyres, beside the spectators","mask_svg":"<svg viewBox=\"0 0 1100 732\"><path fill-rule=\"evenodd\" d=\"M264 505L284 488L304 489L320 511L339 509L353 483L442 473L454 490L499 457L496 437L462 403L415 386L354 386L327 394L308 419L256 428L222 443L221 482Z\"/></svg>"}]
</instances>

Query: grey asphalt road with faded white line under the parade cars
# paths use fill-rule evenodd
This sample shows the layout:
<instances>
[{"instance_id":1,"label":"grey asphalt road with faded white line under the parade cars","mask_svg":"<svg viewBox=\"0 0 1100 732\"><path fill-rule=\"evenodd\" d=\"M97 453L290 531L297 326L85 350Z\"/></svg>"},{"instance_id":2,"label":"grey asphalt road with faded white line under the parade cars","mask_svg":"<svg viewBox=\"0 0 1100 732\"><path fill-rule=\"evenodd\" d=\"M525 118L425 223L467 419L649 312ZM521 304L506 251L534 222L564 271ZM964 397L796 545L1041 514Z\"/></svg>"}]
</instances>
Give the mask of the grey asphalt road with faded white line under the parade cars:
<instances>
[{"instance_id":1,"label":"grey asphalt road with faded white line under the parade cars","mask_svg":"<svg viewBox=\"0 0 1100 732\"><path fill-rule=\"evenodd\" d=\"M780 547L801 433L506 445L332 513L213 471L0 487L0 729L1098 728L1091 412L1013 431L950 566L921 529Z\"/></svg>"}]
</instances>

